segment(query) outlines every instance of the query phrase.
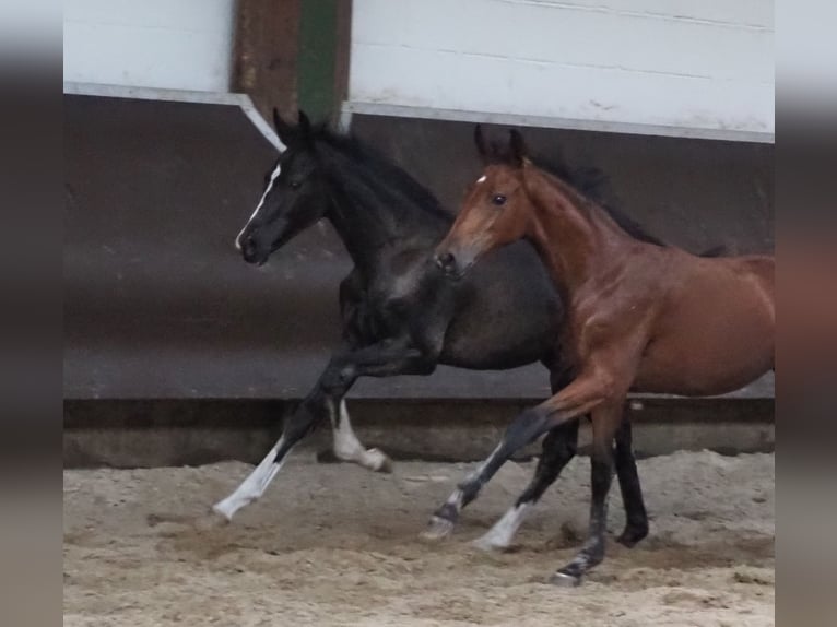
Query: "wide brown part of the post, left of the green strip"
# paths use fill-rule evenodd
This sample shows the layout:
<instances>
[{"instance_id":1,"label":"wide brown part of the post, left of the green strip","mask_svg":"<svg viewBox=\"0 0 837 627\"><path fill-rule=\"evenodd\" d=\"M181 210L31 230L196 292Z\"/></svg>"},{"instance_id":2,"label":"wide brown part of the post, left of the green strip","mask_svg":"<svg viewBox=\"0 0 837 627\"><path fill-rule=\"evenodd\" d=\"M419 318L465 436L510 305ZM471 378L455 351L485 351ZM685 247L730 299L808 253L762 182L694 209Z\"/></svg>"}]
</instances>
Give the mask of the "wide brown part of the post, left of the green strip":
<instances>
[{"instance_id":1,"label":"wide brown part of the post, left of the green strip","mask_svg":"<svg viewBox=\"0 0 837 627\"><path fill-rule=\"evenodd\" d=\"M296 120L300 0L238 0L233 88L272 125L276 107Z\"/></svg>"}]
</instances>

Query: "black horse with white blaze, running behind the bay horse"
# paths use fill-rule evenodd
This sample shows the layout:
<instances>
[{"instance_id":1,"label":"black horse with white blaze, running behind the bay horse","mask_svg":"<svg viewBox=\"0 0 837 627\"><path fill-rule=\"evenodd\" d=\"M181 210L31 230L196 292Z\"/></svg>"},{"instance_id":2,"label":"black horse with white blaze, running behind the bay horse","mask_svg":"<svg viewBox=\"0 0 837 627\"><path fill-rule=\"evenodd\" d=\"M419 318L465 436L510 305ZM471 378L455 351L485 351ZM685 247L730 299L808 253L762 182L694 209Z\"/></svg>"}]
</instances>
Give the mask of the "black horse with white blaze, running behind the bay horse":
<instances>
[{"instance_id":1,"label":"black horse with white blaze, running behind the bay horse","mask_svg":"<svg viewBox=\"0 0 837 627\"><path fill-rule=\"evenodd\" d=\"M379 451L365 451L349 424L343 398L358 377L429 375L438 364L487 370L541 362L550 370L553 390L571 380L553 348L562 304L529 244L486 256L465 280L451 284L434 263L433 251L453 215L429 191L358 140L313 128L302 113L297 126L274 111L274 123L286 150L236 239L244 259L264 263L325 217L343 240L354 269L340 286L344 345L264 460L215 505L227 519L261 496L287 452L326 417L334 428L338 457L373 468L386 459ZM598 187L573 180L588 193ZM633 225L615 210L613 215ZM578 421L546 436L532 482L480 544L509 544L524 511L575 456L577 439ZM615 437L615 459L627 514L620 541L633 545L647 535L648 522L628 421ZM447 534L451 518L435 517L427 535Z\"/></svg>"}]
</instances>

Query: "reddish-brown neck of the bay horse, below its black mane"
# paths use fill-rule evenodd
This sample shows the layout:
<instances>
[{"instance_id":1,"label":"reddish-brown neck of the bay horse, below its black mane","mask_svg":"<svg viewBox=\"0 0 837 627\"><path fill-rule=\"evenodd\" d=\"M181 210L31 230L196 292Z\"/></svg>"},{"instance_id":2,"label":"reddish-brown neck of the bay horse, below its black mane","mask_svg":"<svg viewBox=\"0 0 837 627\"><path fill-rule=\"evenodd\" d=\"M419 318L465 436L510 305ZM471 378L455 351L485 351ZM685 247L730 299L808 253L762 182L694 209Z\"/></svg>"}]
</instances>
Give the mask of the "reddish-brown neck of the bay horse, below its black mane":
<instances>
[{"instance_id":1,"label":"reddish-brown neck of the bay horse, below its black mane","mask_svg":"<svg viewBox=\"0 0 837 627\"><path fill-rule=\"evenodd\" d=\"M526 166L524 178L534 210L527 238L563 296L618 267L640 244L563 180L531 165Z\"/></svg>"}]
</instances>

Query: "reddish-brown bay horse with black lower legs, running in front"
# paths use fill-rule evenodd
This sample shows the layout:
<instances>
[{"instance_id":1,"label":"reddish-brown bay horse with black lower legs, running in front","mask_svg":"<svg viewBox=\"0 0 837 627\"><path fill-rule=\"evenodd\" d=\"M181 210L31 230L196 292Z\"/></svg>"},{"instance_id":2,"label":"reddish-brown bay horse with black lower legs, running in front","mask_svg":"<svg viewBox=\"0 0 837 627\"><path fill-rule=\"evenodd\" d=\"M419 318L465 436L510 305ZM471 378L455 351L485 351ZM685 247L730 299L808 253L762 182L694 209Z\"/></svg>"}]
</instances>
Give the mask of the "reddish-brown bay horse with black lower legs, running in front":
<instances>
[{"instance_id":1,"label":"reddish-brown bay horse with black lower legs, running in front","mask_svg":"<svg viewBox=\"0 0 837 627\"><path fill-rule=\"evenodd\" d=\"M432 524L455 517L521 446L589 413L588 539L551 578L577 585L604 558L611 441L626 394L722 394L773 369L775 260L759 255L708 259L641 241L594 199L539 167L518 131L511 131L503 154L486 149L479 132L478 145L490 163L437 247L436 262L458 282L471 269L476 272L482 263L474 263L490 251L530 241L566 307L559 342L575 378L511 423ZM520 316L527 315L521 307Z\"/></svg>"}]
</instances>

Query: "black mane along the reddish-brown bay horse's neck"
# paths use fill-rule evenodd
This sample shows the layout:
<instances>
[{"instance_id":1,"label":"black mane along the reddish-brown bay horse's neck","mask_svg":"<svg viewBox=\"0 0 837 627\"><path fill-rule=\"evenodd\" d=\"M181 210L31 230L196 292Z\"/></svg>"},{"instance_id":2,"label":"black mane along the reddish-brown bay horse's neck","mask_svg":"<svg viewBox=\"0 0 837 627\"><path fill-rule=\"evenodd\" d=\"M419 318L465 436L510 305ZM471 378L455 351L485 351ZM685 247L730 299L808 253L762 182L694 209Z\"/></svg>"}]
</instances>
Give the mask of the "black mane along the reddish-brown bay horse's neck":
<instances>
[{"instance_id":1,"label":"black mane along the reddish-brown bay horse's neck","mask_svg":"<svg viewBox=\"0 0 837 627\"><path fill-rule=\"evenodd\" d=\"M565 181L601 206L625 233L635 239L657 246L667 246L664 241L648 233L638 222L615 206L610 178L601 169L590 166L570 166L562 157L546 161L539 156L531 161L539 168Z\"/></svg>"}]
</instances>

